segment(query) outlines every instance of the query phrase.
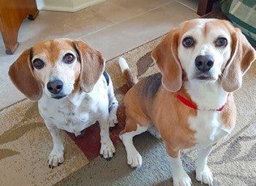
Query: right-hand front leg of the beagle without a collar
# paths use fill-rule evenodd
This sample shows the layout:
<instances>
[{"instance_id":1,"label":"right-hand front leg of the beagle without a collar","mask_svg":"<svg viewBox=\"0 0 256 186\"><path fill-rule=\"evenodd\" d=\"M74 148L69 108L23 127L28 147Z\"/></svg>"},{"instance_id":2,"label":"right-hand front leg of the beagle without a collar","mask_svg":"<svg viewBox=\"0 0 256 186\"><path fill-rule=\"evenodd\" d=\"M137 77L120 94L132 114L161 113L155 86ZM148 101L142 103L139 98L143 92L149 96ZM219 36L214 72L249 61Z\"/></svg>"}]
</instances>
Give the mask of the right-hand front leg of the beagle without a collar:
<instances>
[{"instance_id":1,"label":"right-hand front leg of the beagle without a collar","mask_svg":"<svg viewBox=\"0 0 256 186\"><path fill-rule=\"evenodd\" d=\"M102 118L99 119L99 128L101 143L99 154L106 160L111 160L113 155L116 153L116 149L109 136L108 115L102 115Z\"/></svg>"}]
</instances>

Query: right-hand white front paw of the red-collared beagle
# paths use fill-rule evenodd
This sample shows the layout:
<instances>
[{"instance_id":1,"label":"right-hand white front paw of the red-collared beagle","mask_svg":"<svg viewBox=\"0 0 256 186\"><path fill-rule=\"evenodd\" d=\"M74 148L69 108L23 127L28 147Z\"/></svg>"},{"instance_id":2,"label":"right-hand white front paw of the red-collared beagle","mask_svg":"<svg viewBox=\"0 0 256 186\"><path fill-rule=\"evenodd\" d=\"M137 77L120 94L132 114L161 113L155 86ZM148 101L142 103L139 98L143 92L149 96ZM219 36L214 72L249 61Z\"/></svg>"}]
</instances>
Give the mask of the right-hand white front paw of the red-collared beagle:
<instances>
[{"instance_id":1,"label":"right-hand white front paw of the red-collared beagle","mask_svg":"<svg viewBox=\"0 0 256 186\"><path fill-rule=\"evenodd\" d=\"M205 183L208 184L209 186L213 185L213 175L208 166L205 166L204 168L196 168L195 171L197 181L201 182L201 184Z\"/></svg>"}]
</instances>

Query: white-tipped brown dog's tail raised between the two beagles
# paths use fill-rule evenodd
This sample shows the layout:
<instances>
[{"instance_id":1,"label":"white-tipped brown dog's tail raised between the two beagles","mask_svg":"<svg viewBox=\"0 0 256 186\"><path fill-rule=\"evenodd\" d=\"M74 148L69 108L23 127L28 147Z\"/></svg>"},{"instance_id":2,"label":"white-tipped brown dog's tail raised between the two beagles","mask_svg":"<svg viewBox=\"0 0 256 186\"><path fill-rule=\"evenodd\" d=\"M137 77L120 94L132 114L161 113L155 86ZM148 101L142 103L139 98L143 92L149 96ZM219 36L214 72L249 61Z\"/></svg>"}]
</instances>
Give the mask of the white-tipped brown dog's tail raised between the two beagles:
<instances>
[{"instance_id":1,"label":"white-tipped brown dog's tail raised between the two beagles","mask_svg":"<svg viewBox=\"0 0 256 186\"><path fill-rule=\"evenodd\" d=\"M127 61L122 57L119 58L119 66L121 68L121 72L127 78L127 85L129 86L129 88L132 88L132 86L135 85L138 82L138 80L134 75L132 75L132 72L129 69Z\"/></svg>"}]
</instances>

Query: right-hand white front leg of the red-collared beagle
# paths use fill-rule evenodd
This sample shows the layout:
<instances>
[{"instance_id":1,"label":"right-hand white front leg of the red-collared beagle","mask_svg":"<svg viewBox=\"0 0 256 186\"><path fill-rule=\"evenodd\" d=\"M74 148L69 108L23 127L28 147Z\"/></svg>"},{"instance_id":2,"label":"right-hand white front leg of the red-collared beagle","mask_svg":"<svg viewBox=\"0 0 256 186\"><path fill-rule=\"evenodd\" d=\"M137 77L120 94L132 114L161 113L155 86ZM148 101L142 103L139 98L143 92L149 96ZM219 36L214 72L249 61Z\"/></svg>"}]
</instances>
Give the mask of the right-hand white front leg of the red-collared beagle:
<instances>
[{"instance_id":1,"label":"right-hand white front leg of the red-collared beagle","mask_svg":"<svg viewBox=\"0 0 256 186\"><path fill-rule=\"evenodd\" d=\"M208 155L211 153L214 145L207 147L206 149L201 149L198 152L197 161L196 161L196 179L201 183L205 183L208 185L213 185L213 175L211 173L210 168L207 166Z\"/></svg>"}]
</instances>

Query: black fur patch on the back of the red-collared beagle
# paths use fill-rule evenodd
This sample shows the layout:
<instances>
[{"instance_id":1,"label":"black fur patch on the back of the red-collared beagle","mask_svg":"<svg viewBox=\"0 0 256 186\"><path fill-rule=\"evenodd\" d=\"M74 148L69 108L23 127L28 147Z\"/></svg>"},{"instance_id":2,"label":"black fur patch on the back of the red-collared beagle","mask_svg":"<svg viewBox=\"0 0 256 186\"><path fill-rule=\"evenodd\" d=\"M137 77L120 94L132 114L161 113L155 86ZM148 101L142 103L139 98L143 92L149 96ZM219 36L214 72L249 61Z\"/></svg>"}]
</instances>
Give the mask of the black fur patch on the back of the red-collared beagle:
<instances>
[{"instance_id":1,"label":"black fur patch on the back of the red-collared beagle","mask_svg":"<svg viewBox=\"0 0 256 186\"><path fill-rule=\"evenodd\" d=\"M150 99L154 99L161 85L162 85L161 73L157 73L149 76L143 87L143 95L145 95Z\"/></svg>"}]
</instances>

